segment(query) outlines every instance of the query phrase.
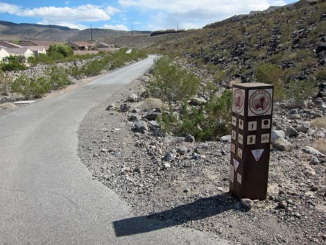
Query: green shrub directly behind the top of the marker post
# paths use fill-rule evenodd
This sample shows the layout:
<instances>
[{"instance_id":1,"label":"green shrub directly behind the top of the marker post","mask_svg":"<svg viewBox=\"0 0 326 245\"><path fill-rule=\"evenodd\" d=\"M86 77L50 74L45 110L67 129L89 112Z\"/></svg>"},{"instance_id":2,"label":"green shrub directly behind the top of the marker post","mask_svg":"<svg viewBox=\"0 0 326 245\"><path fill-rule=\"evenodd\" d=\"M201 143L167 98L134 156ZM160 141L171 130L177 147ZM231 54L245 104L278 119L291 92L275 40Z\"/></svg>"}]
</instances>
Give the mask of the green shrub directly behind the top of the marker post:
<instances>
[{"instance_id":1,"label":"green shrub directly behind the top of the marker post","mask_svg":"<svg viewBox=\"0 0 326 245\"><path fill-rule=\"evenodd\" d=\"M256 69L255 78L259 83L268 83L274 85L274 99L284 99L284 81L283 71L277 65L263 63Z\"/></svg>"}]
</instances>

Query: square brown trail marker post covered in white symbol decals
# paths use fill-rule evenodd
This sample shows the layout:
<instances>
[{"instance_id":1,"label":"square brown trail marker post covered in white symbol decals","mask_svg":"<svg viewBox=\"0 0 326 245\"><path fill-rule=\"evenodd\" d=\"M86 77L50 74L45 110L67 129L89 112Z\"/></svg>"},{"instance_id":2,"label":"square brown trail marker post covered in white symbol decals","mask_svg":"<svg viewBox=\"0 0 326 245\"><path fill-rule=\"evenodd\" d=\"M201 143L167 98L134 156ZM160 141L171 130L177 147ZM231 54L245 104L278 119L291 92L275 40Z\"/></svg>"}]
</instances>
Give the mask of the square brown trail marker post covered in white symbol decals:
<instances>
[{"instance_id":1,"label":"square brown trail marker post covered in white symbol decals","mask_svg":"<svg viewBox=\"0 0 326 245\"><path fill-rule=\"evenodd\" d=\"M274 86L233 86L230 192L237 198L267 196Z\"/></svg>"}]
</instances>

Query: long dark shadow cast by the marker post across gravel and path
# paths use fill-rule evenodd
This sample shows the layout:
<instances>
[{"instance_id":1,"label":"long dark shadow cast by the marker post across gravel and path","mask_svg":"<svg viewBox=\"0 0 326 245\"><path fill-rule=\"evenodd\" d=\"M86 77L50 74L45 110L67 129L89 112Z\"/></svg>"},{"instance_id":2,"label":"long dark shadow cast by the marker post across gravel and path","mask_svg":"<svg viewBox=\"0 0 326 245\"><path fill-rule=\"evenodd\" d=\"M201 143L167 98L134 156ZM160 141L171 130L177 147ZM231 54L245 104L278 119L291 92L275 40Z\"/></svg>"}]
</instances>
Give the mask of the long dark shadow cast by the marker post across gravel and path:
<instances>
[{"instance_id":1,"label":"long dark shadow cast by the marker post across gravel and path","mask_svg":"<svg viewBox=\"0 0 326 245\"><path fill-rule=\"evenodd\" d=\"M205 219L233 208L234 198L230 193L224 193L209 198L201 198L171 210L114 221L113 227L117 237L124 237L178 226L188 221Z\"/></svg>"}]
</instances>

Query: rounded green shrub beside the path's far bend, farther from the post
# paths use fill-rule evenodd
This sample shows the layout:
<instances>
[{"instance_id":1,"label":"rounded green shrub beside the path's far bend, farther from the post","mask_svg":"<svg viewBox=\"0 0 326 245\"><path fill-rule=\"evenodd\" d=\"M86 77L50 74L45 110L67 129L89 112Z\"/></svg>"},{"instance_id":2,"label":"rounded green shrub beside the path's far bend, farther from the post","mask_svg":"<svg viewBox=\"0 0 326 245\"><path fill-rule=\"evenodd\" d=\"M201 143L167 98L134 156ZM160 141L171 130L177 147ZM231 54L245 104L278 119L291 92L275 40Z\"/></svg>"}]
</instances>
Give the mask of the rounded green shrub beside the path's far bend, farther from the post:
<instances>
[{"instance_id":1,"label":"rounded green shrub beside the path's far bend, farther from the post","mask_svg":"<svg viewBox=\"0 0 326 245\"><path fill-rule=\"evenodd\" d=\"M155 60L154 79L148 85L153 96L167 101L182 101L196 94L200 80L194 74L181 69L163 57Z\"/></svg>"}]
</instances>

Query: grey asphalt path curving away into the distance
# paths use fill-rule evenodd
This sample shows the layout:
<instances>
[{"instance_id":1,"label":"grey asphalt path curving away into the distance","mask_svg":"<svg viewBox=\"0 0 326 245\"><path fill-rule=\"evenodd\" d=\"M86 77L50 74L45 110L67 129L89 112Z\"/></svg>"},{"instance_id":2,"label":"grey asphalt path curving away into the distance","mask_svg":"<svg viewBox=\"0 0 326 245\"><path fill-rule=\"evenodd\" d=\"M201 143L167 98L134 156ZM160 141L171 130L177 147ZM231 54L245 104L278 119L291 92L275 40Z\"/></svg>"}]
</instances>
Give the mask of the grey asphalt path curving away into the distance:
<instances>
[{"instance_id":1,"label":"grey asphalt path curving away into the distance","mask_svg":"<svg viewBox=\"0 0 326 245\"><path fill-rule=\"evenodd\" d=\"M144 74L153 56L0 118L0 244L228 244L133 217L77 154L85 114Z\"/></svg>"}]
</instances>

